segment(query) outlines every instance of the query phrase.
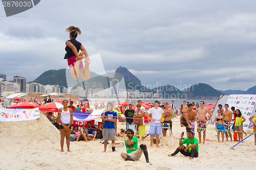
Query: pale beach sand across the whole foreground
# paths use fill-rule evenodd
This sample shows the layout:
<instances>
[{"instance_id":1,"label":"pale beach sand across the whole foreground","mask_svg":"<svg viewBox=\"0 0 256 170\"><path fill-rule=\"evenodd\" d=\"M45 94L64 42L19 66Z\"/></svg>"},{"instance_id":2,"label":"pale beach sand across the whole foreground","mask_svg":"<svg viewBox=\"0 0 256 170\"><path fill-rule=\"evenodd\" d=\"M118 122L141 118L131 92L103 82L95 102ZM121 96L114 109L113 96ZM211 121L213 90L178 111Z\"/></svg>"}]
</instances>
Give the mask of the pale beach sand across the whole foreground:
<instances>
[{"instance_id":1,"label":"pale beach sand across the whole foreground","mask_svg":"<svg viewBox=\"0 0 256 170\"><path fill-rule=\"evenodd\" d=\"M124 147L116 148L114 153L108 147L103 153L99 139L71 142L71 153L67 152L65 141L65 152L60 152L59 131L44 114L37 120L0 122L0 169L256 169L253 135L235 149L230 149L238 142L219 143L216 131L207 130L206 139L211 141L199 144L198 158L189 160L180 153L168 157L178 147L180 133L185 131L177 118L174 121L173 136L162 137L160 148L155 144L153 148L149 147L150 136L143 140L153 165L145 162L143 154L139 161L124 161L120 157L120 153L125 152ZM118 129L124 127L118 123ZM148 128L147 125L147 132ZM207 128L212 127L208 125Z\"/></svg>"}]
</instances>

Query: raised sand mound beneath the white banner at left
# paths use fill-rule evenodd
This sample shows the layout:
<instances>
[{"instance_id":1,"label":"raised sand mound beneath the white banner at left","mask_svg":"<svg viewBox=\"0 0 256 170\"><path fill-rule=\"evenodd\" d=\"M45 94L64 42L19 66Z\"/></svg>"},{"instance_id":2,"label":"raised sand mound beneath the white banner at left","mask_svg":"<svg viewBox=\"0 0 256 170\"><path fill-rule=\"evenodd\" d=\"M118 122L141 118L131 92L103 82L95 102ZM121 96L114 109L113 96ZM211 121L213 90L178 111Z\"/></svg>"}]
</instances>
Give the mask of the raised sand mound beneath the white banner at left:
<instances>
[{"instance_id":1,"label":"raised sand mound beneath the white banner at left","mask_svg":"<svg viewBox=\"0 0 256 170\"><path fill-rule=\"evenodd\" d=\"M59 131L40 112L40 118L20 122L0 122L2 147L53 148L59 147Z\"/></svg>"}]
</instances>

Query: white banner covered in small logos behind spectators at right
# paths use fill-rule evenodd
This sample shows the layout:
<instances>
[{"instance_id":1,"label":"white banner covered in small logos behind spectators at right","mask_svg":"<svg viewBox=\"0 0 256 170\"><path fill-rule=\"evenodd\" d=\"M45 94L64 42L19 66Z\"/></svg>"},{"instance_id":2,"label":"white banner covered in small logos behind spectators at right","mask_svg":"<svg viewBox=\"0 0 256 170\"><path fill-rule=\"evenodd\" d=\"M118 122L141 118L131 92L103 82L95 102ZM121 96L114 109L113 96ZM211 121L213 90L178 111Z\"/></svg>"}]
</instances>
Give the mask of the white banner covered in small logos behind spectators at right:
<instances>
[{"instance_id":1,"label":"white banner covered in small logos behind spectators at right","mask_svg":"<svg viewBox=\"0 0 256 170\"><path fill-rule=\"evenodd\" d=\"M242 115L246 118L246 121L243 123L243 130L246 132L247 128L250 125L249 117L253 113L253 108L256 102L255 94L230 94L227 104L229 108L234 106L235 109L239 109ZM233 125L231 122L230 126Z\"/></svg>"}]
</instances>

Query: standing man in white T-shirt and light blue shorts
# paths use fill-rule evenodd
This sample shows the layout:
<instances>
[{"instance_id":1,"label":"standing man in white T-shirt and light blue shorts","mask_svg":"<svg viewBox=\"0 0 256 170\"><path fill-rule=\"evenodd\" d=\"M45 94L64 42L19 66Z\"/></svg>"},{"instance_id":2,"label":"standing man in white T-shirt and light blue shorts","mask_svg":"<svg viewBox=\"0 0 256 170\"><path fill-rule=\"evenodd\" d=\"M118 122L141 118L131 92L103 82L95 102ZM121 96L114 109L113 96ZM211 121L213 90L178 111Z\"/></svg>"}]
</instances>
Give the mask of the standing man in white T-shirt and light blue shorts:
<instances>
[{"instance_id":1,"label":"standing man in white T-shirt and light blue shorts","mask_svg":"<svg viewBox=\"0 0 256 170\"><path fill-rule=\"evenodd\" d=\"M155 107L148 110L145 115L151 120L150 124L150 147L153 147L154 136L156 135L156 147L159 147L159 135L161 135L161 120L164 117L164 111L161 107L158 107L159 101L155 101ZM151 114L152 117L150 117ZM161 116L162 115L162 116Z\"/></svg>"}]
</instances>

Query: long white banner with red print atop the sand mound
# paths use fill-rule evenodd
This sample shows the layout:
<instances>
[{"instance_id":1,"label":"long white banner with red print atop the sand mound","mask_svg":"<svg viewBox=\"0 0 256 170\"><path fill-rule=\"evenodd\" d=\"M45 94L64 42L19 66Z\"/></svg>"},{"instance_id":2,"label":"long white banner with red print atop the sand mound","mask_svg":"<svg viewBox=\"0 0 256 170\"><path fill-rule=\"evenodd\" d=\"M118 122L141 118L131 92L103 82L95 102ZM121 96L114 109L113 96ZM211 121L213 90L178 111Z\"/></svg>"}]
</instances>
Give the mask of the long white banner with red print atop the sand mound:
<instances>
[{"instance_id":1,"label":"long white banner with red print atop the sand mound","mask_svg":"<svg viewBox=\"0 0 256 170\"><path fill-rule=\"evenodd\" d=\"M0 122L17 122L33 120L40 117L40 111L36 109L0 109Z\"/></svg>"}]
</instances>

